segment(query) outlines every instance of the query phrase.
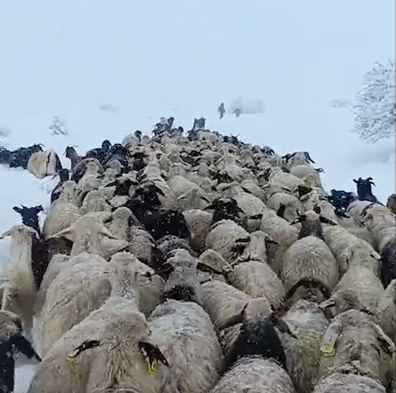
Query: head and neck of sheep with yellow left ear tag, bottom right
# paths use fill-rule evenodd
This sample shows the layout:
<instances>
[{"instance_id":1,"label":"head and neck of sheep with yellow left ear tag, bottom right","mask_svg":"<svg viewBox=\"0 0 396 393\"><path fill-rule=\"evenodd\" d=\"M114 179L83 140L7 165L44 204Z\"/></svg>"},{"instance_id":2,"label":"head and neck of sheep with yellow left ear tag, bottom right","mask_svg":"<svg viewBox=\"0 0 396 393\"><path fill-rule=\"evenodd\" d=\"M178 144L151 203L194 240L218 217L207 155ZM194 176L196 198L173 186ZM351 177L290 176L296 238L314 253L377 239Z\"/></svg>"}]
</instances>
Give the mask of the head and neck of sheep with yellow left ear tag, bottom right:
<instances>
[{"instance_id":1,"label":"head and neck of sheep with yellow left ear tag, bottom right","mask_svg":"<svg viewBox=\"0 0 396 393\"><path fill-rule=\"evenodd\" d=\"M395 345L361 311L348 310L335 317L324 334L318 380L339 372L359 374L388 385Z\"/></svg>"}]
</instances>

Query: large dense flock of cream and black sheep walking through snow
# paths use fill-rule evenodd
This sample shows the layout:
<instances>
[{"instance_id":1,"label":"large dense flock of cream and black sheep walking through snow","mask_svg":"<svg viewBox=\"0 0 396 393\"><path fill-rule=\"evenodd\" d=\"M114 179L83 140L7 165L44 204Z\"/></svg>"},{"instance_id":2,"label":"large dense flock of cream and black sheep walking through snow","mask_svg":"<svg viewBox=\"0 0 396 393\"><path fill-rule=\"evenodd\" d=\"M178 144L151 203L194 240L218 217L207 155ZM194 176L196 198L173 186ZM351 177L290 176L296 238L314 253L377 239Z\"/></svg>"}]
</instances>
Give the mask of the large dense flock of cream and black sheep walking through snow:
<instances>
[{"instance_id":1,"label":"large dense flock of cream and black sheep walking through snow","mask_svg":"<svg viewBox=\"0 0 396 393\"><path fill-rule=\"evenodd\" d=\"M1 236L29 393L396 392L394 196L199 125L25 160L60 178Z\"/></svg>"}]
</instances>

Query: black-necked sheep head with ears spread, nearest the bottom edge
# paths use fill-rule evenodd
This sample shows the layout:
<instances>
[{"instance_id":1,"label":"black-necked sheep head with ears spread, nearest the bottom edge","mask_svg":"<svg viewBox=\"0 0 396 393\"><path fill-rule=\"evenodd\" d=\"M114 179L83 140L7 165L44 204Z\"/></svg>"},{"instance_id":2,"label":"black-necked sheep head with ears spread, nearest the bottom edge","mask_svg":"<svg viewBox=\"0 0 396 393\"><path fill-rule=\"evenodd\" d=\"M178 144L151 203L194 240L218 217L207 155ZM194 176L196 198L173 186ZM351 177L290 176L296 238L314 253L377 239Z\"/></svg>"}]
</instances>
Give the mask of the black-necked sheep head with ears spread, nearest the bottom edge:
<instances>
[{"instance_id":1,"label":"black-necked sheep head with ears spread, nearest the bottom edge","mask_svg":"<svg viewBox=\"0 0 396 393\"><path fill-rule=\"evenodd\" d=\"M248 355L261 355L263 358L276 359L286 370L286 356L284 347L275 327L282 333L296 337L287 326L286 322L278 319L274 312L270 311L267 315L256 315L253 318L247 318L247 308L249 303L244 307L242 312L231 317L221 328L228 328L237 323L242 323L240 335L235 341L230 354L225 362L227 370L239 358Z\"/></svg>"}]
</instances>

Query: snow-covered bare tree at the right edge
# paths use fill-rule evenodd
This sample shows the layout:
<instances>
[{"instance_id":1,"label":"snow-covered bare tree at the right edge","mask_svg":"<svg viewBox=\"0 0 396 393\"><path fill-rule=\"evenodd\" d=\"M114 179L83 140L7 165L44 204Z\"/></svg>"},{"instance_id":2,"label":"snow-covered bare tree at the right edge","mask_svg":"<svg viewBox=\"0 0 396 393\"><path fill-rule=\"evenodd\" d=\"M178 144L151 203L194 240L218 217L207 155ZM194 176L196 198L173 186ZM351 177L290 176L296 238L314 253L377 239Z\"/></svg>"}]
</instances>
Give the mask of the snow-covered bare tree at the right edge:
<instances>
[{"instance_id":1,"label":"snow-covered bare tree at the right edge","mask_svg":"<svg viewBox=\"0 0 396 393\"><path fill-rule=\"evenodd\" d=\"M356 94L353 106L352 132L375 143L396 134L396 69L395 61L375 63L364 75L364 88Z\"/></svg>"}]
</instances>

